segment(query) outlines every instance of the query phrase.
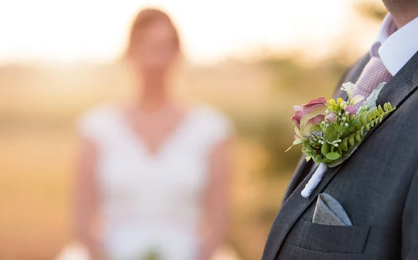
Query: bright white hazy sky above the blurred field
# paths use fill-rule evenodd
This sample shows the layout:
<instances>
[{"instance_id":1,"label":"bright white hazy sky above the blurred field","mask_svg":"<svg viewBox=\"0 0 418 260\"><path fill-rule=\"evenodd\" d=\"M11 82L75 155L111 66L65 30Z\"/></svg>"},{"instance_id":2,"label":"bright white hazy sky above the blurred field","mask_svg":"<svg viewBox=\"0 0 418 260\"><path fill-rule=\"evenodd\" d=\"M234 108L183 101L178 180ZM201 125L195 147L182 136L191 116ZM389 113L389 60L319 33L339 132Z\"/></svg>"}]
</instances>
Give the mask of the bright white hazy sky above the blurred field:
<instances>
[{"instance_id":1,"label":"bright white hazy sky above the blurred field","mask_svg":"<svg viewBox=\"0 0 418 260\"><path fill-rule=\"evenodd\" d=\"M144 6L171 15L197 62L262 47L326 48L352 15L350 0L1 0L0 63L114 60Z\"/></svg>"}]
</instances>

